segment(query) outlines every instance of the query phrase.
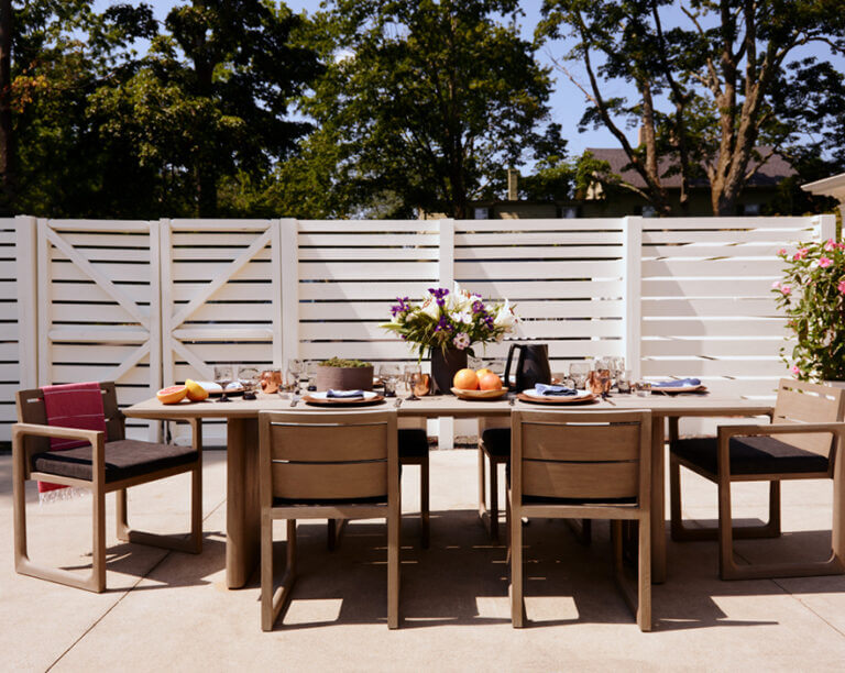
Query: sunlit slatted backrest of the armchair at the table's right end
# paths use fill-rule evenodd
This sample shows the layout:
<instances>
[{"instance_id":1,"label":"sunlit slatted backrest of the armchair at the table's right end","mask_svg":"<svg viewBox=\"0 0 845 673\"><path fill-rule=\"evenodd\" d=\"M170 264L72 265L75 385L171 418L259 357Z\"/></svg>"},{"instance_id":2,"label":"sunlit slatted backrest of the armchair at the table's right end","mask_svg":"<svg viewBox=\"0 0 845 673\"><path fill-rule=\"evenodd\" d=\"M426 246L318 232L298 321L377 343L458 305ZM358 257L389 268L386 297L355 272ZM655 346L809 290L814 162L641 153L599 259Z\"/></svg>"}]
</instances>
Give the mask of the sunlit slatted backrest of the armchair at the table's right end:
<instances>
[{"instance_id":1,"label":"sunlit slatted backrest of the armchair at the table's right end","mask_svg":"<svg viewBox=\"0 0 845 673\"><path fill-rule=\"evenodd\" d=\"M781 378L771 422L825 423L845 420L845 389ZM780 434L776 438L819 455L831 455L833 433Z\"/></svg>"}]
</instances>

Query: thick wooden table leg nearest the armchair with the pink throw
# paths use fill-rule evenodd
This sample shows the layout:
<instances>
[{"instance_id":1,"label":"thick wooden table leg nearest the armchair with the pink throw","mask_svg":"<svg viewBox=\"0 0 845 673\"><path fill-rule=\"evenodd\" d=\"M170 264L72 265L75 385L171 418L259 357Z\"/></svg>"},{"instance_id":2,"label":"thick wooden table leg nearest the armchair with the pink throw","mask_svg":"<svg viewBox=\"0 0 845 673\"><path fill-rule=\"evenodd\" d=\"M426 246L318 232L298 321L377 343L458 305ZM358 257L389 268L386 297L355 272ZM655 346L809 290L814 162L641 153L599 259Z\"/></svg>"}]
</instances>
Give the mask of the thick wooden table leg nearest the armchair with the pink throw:
<instances>
[{"instance_id":1,"label":"thick wooden table leg nearest the armchair with the pink throw","mask_svg":"<svg viewBox=\"0 0 845 673\"><path fill-rule=\"evenodd\" d=\"M259 561L259 421L227 420L226 585L241 588Z\"/></svg>"}]
</instances>

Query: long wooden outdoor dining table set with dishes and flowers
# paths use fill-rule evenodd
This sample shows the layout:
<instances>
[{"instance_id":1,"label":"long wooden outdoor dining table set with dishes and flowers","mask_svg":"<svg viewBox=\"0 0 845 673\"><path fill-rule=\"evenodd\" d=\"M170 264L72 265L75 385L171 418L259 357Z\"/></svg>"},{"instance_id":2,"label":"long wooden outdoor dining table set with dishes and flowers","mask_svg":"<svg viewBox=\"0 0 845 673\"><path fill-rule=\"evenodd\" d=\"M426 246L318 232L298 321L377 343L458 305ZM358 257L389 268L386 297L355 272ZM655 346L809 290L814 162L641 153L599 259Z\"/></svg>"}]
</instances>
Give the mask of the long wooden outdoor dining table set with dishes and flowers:
<instances>
[{"instance_id":1,"label":"long wooden outdoor dining table set with dishes and flowers","mask_svg":"<svg viewBox=\"0 0 845 673\"><path fill-rule=\"evenodd\" d=\"M514 401L512 405L511 401ZM393 405L392 400L385 404ZM513 409L549 408L522 400L463 400L451 395L425 396L403 400L397 412L414 418L507 418ZM588 405L556 405L553 408L578 409L648 409L651 422L651 578L662 583L667 577L666 549L666 419L681 417L766 416L771 405L766 401L718 395L613 395ZM163 405L156 398L123 409L129 418L186 420L191 418L227 421L227 530L226 581L229 588L246 584L259 560L259 411L290 409L290 399L259 394L255 400L232 398L228 404L212 399L201 402ZM297 409L319 413L326 409L299 401Z\"/></svg>"}]
</instances>

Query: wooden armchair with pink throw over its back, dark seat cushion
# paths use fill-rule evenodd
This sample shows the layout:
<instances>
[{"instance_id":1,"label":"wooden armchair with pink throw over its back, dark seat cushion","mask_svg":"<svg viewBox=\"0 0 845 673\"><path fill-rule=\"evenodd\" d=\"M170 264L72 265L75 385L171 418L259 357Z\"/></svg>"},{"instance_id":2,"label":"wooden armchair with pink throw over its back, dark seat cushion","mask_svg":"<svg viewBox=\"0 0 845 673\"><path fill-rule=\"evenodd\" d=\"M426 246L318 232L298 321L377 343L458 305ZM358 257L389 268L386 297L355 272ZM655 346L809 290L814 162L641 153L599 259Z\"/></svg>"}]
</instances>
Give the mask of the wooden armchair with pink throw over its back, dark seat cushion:
<instances>
[{"instance_id":1,"label":"wooden armchair with pink throw over its back, dark seat cushion","mask_svg":"<svg viewBox=\"0 0 845 673\"><path fill-rule=\"evenodd\" d=\"M41 388L17 395L18 419L12 426L12 483L14 509L14 567L23 575L91 592L106 589L106 494L117 493L117 536L125 542L198 554L202 551L202 435L200 420L189 420L190 446L174 446L127 439L125 419L118 408L114 384L101 383L106 432L47 424ZM51 451L51 438L84 440L76 449ZM168 476L191 473L190 536L142 532L129 528L127 489ZM94 501L91 573L40 565L26 545L28 481L87 488Z\"/></svg>"}]
</instances>

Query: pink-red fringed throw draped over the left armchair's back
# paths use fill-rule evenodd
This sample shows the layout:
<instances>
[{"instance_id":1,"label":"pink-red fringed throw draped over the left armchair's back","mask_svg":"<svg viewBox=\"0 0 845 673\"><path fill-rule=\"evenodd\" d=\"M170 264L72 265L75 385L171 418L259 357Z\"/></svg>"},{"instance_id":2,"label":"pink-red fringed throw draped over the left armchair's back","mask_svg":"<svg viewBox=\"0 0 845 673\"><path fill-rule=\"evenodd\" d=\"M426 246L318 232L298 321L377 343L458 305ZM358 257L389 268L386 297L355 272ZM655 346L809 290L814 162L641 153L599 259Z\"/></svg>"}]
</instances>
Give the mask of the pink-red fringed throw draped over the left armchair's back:
<instances>
[{"instance_id":1,"label":"pink-red fringed throw draped over the left armchair's back","mask_svg":"<svg viewBox=\"0 0 845 673\"><path fill-rule=\"evenodd\" d=\"M47 424L80 430L102 430L106 432L106 413L102 410L102 393L96 380L62 386L44 386L44 409ZM51 438L51 451L66 451L85 446L85 440ZM57 488L67 488L59 484L39 482L39 493L44 494Z\"/></svg>"}]
</instances>

